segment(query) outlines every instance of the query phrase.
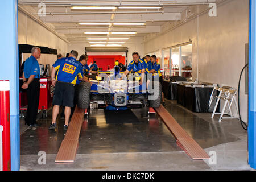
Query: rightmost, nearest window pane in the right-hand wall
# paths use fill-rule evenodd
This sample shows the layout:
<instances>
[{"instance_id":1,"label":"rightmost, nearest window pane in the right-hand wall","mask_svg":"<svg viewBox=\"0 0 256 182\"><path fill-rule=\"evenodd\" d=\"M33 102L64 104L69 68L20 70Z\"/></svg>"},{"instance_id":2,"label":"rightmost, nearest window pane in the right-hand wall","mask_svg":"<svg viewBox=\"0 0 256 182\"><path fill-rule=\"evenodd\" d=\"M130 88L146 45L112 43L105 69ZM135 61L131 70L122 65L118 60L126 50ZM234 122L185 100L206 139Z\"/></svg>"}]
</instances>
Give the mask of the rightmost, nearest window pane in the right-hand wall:
<instances>
[{"instance_id":1,"label":"rightmost, nearest window pane in the right-hand wall","mask_svg":"<svg viewBox=\"0 0 256 182\"><path fill-rule=\"evenodd\" d=\"M192 44L181 46L181 76L192 80Z\"/></svg>"}]
</instances>

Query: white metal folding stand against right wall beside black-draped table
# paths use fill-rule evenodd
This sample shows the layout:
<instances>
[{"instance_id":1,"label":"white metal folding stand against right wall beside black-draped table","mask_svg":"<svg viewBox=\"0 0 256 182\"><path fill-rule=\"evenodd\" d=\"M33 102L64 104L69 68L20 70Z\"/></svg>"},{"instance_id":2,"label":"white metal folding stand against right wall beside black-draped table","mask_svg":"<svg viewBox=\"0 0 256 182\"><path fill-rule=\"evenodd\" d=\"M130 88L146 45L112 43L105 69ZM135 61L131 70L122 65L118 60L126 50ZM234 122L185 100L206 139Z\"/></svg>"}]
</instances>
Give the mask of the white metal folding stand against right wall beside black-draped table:
<instances>
[{"instance_id":1,"label":"white metal folding stand against right wall beside black-draped table","mask_svg":"<svg viewBox=\"0 0 256 182\"><path fill-rule=\"evenodd\" d=\"M220 92L218 94L218 96L214 96L215 90ZM213 99L217 98L217 102L216 102L216 105L215 105L213 113L212 113L212 118L214 118L215 114L218 114L218 115L220 115L220 119L218 120L218 122L221 122L222 119L238 119L238 117L234 117L232 110L231 110L231 106L234 103L236 106L236 111L237 111L237 115L238 115L238 105L237 105L236 95L237 95L237 90L233 89L232 87L222 86L222 88L219 88L219 87L215 86L212 91L212 94L210 96L210 101L209 101L209 107L210 107L212 105ZM223 107L221 113L216 113L216 109L217 109L217 106L218 106L218 103L220 102L220 100L224 100L225 104L224 104L224 107ZM228 105L228 112L225 113L227 105ZM224 114L230 115L230 117L223 117Z\"/></svg>"}]
</instances>

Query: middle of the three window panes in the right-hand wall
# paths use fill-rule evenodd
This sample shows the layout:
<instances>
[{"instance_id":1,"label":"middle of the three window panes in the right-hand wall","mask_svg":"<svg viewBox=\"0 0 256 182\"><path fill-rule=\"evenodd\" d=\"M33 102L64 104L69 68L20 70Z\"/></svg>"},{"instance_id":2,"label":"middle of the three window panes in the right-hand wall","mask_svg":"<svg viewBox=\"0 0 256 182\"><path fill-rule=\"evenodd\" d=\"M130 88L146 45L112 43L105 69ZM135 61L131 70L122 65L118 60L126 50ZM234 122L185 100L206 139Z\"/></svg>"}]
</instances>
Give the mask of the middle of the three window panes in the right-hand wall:
<instances>
[{"instance_id":1,"label":"middle of the three window panes in the right-hand wall","mask_svg":"<svg viewBox=\"0 0 256 182\"><path fill-rule=\"evenodd\" d=\"M180 75L180 47L171 49L171 76Z\"/></svg>"}]
</instances>

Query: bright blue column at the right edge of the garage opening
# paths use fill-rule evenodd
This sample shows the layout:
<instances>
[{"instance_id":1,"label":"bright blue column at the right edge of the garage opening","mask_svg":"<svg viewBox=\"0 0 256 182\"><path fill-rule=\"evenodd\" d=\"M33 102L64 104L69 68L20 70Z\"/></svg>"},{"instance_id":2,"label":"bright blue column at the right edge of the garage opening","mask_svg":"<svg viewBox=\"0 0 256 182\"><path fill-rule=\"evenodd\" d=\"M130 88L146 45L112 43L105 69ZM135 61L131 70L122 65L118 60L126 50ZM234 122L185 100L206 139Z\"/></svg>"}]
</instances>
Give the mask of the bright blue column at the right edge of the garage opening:
<instances>
[{"instance_id":1,"label":"bright blue column at the right edge of the garage opening","mask_svg":"<svg viewBox=\"0 0 256 182\"><path fill-rule=\"evenodd\" d=\"M250 0L249 17L249 127L248 127L248 152L249 165L256 169L256 2Z\"/></svg>"}]
</instances>

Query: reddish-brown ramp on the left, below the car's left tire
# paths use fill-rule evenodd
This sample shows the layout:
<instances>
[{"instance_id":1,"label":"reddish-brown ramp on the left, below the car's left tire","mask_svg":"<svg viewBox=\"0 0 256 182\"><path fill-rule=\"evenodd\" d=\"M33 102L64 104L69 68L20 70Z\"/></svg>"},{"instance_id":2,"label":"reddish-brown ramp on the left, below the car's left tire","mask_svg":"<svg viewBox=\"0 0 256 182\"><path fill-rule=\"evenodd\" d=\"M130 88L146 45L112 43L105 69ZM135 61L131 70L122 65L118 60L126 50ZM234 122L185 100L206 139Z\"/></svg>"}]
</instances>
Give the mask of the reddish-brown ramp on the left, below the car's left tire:
<instances>
[{"instance_id":1,"label":"reddish-brown ramp on the left, below the car's left tire","mask_svg":"<svg viewBox=\"0 0 256 182\"><path fill-rule=\"evenodd\" d=\"M56 163L73 163L75 161L77 148L79 146L80 130L84 122L84 111L84 109L79 109L76 106L67 133L56 156Z\"/></svg>"}]
</instances>

